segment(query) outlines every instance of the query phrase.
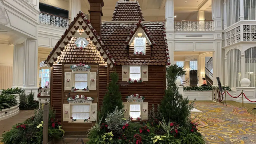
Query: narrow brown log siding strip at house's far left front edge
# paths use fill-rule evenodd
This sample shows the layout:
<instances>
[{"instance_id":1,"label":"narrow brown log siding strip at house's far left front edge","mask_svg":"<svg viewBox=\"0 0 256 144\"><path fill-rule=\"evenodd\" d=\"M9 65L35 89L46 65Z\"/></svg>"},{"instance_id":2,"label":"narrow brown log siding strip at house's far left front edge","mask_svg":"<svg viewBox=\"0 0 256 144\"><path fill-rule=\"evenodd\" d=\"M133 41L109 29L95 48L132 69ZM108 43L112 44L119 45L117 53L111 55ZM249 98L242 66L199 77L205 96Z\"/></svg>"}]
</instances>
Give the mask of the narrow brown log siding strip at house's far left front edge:
<instances>
[{"instance_id":1,"label":"narrow brown log siding strip at house's far left front edge","mask_svg":"<svg viewBox=\"0 0 256 144\"><path fill-rule=\"evenodd\" d=\"M51 106L56 110L55 118L62 119L62 64L52 66Z\"/></svg>"}]
</instances>

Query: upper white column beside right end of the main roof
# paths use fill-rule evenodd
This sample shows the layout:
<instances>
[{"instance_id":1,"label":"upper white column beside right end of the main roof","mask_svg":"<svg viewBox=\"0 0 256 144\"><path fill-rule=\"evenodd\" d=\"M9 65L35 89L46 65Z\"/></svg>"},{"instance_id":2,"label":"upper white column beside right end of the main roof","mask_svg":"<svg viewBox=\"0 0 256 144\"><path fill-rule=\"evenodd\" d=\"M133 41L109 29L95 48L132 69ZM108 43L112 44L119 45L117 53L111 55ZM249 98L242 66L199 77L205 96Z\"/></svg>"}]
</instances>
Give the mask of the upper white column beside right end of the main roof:
<instances>
[{"instance_id":1,"label":"upper white column beside right end of the main roof","mask_svg":"<svg viewBox=\"0 0 256 144\"><path fill-rule=\"evenodd\" d=\"M165 20L166 20L166 31L174 30L174 0L166 0L165 3Z\"/></svg>"}]
</instances>

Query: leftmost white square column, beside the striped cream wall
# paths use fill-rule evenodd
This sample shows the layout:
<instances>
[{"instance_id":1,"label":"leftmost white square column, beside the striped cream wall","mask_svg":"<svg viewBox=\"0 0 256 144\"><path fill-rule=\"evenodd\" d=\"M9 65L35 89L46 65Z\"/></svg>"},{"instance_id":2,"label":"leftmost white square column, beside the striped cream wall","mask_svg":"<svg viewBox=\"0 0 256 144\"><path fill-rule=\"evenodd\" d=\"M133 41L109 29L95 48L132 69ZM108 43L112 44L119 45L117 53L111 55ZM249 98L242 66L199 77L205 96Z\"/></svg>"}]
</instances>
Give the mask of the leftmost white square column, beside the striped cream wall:
<instances>
[{"instance_id":1,"label":"leftmost white square column, beside the striped cream wall","mask_svg":"<svg viewBox=\"0 0 256 144\"><path fill-rule=\"evenodd\" d=\"M13 48L13 88L23 87L24 44L14 44Z\"/></svg>"}]
</instances>

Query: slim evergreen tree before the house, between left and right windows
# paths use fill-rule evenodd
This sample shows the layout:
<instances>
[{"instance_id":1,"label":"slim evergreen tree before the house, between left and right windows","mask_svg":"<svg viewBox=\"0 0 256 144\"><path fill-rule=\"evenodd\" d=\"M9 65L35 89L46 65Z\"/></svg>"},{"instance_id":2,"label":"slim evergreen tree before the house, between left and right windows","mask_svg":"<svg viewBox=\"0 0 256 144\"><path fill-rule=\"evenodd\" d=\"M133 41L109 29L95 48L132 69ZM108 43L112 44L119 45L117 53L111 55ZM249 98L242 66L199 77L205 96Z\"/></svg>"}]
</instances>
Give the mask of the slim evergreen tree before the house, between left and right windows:
<instances>
[{"instance_id":1,"label":"slim evergreen tree before the house, between left and right windows","mask_svg":"<svg viewBox=\"0 0 256 144\"><path fill-rule=\"evenodd\" d=\"M100 119L103 117L102 121L105 121L105 117L108 113L111 113L115 110L116 106L120 110L123 108L122 95L119 91L119 84L117 81L119 79L118 73L110 73L111 81L108 85L108 91L106 92L103 98L103 105L101 107Z\"/></svg>"}]
</instances>

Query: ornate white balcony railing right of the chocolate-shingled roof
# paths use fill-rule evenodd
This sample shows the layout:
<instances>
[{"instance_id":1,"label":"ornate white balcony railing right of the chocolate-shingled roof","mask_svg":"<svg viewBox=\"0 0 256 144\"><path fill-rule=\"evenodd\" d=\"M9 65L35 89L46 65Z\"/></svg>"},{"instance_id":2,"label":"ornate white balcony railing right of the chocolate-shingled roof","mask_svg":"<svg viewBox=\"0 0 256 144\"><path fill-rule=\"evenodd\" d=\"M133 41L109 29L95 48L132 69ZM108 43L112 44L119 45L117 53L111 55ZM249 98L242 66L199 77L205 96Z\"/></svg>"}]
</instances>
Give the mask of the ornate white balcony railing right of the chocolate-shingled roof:
<instances>
[{"instance_id":1,"label":"ornate white balcony railing right of the chocolate-shingled roof","mask_svg":"<svg viewBox=\"0 0 256 144\"><path fill-rule=\"evenodd\" d=\"M176 31L211 31L213 21L174 21Z\"/></svg>"}]
</instances>

